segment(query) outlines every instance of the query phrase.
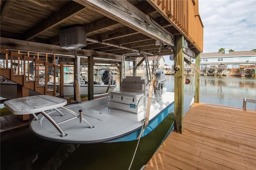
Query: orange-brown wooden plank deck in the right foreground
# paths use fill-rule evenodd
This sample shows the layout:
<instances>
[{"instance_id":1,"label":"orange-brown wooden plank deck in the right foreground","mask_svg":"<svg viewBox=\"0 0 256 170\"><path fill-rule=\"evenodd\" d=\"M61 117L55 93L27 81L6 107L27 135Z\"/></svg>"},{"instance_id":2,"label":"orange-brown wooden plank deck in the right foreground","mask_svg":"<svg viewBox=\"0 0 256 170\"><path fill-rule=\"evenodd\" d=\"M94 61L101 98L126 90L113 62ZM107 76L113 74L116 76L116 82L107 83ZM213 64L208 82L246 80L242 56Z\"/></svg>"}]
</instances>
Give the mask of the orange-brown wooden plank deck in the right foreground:
<instances>
[{"instance_id":1,"label":"orange-brown wooden plank deck in the right foreground","mask_svg":"<svg viewBox=\"0 0 256 170\"><path fill-rule=\"evenodd\" d=\"M256 169L256 110L194 103L144 170Z\"/></svg>"}]
</instances>

